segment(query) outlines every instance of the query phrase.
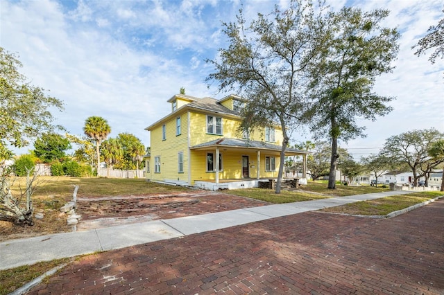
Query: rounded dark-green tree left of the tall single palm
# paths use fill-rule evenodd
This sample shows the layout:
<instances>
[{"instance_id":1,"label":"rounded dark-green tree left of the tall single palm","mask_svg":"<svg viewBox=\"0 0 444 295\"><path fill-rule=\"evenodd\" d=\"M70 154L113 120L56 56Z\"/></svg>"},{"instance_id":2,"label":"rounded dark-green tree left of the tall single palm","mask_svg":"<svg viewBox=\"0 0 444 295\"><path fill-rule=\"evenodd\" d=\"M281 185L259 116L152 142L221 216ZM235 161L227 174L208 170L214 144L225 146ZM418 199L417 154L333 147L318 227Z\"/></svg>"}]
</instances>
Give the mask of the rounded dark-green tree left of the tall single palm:
<instances>
[{"instance_id":1,"label":"rounded dark-green tree left of the tall single palm","mask_svg":"<svg viewBox=\"0 0 444 295\"><path fill-rule=\"evenodd\" d=\"M64 161L70 148L68 138L56 133L44 133L34 141L34 154L43 163Z\"/></svg>"}]
</instances>

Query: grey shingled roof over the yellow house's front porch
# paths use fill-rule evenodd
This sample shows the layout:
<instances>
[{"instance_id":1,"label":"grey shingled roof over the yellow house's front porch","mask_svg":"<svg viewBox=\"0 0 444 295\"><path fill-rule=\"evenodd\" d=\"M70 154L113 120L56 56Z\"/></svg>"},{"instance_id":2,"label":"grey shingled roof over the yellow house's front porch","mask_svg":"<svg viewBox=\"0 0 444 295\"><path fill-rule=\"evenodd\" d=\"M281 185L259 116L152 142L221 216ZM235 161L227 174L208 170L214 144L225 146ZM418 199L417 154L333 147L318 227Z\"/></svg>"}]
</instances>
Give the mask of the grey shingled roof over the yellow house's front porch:
<instances>
[{"instance_id":1,"label":"grey shingled roof over the yellow house's front porch","mask_svg":"<svg viewBox=\"0 0 444 295\"><path fill-rule=\"evenodd\" d=\"M200 143L190 147L191 150L208 150L210 147L232 147L237 149L248 150L268 150L273 152L280 152L282 146L273 145L272 143L265 143L264 141L250 141L249 139L239 138L219 138L214 141L207 141L206 143ZM311 154L311 152L305 150L297 150L292 147L287 147L285 150L287 156Z\"/></svg>"}]
</instances>

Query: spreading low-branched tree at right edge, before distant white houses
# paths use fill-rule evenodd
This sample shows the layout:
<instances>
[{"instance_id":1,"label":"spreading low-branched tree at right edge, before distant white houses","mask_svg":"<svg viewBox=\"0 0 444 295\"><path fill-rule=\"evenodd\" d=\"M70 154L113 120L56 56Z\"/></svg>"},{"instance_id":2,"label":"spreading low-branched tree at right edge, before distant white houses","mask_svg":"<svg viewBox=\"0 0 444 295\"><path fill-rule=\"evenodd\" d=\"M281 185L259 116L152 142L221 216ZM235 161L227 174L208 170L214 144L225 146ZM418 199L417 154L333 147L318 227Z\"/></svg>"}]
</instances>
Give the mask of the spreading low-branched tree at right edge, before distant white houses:
<instances>
[{"instance_id":1,"label":"spreading low-branched tree at right edge, before distant white houses","mask_svg":"<svg viewBox=\"0 0 444 295\"><path fill-rule=\"evenodd\" d=\"M426 177L436 166L444 163L442 157L431 157L429 151L434 143L442 141L444 134L438 130L412 130L391 136L384 145L384 155L392 162L404 163L413 173L413 184L418 185L420 177Z\"/></svg>"}]
</instances>

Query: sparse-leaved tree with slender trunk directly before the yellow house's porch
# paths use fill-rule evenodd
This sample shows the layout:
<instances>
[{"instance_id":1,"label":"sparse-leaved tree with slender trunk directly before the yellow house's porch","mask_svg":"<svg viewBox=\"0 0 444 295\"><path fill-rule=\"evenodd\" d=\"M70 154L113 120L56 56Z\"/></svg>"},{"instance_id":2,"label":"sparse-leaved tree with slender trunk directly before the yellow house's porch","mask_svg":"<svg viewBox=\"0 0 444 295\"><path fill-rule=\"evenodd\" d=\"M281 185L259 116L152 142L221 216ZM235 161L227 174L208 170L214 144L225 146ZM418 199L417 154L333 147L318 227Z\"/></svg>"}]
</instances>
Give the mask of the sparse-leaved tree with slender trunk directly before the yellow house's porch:
<instances>
[{"instance_id":1,"label":"sparse-leaved tree with slender trunk directly before the yellow house's porch","mask_svg":"<svg viewBox=\"0 0 444 295\"><path fill-rule=\"evenodd\" d=\"M223 23L228 48L219 49L218 60L207 60L216 69L207 82L215 80L219 90L234 90L247 100L241 128L282 127L276 193L280 193L290 132L302 114L304 69L321 46L322 32L321 14L316 15L310 0L290 1L284 11L275 6L269 15L258 13L249 25L240 10L237 21Z\"/></svg>"}]
</instances>

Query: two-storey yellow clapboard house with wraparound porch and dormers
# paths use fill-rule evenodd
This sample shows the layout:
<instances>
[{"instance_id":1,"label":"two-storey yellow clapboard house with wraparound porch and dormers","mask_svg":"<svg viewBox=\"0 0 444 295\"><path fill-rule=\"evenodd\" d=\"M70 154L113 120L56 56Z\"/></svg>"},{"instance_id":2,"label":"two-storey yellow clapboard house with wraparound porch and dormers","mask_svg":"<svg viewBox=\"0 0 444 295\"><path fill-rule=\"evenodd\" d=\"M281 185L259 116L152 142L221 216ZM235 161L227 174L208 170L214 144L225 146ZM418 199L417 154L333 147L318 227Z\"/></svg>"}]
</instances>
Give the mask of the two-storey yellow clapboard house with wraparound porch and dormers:
<instances>
[{"instance_id":1,"label":"two-storey yellow clapboard house with wraparound porch and dormers","mask_svg":"<svg viewBox=\"0 0 444 295\"><path fill-rule=\"evenodd\" d=\"M144 157L147 179L217 190L256 187L260 179L278 177L282 129L240 132L242 98L177 94L168 102L171 113L146 127L151 132L151 152ZM302 178L307 154L286 151L286 156L303 157Z\"/></svg>"}]
</instances>

